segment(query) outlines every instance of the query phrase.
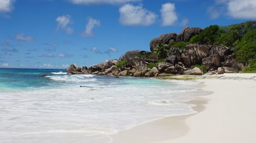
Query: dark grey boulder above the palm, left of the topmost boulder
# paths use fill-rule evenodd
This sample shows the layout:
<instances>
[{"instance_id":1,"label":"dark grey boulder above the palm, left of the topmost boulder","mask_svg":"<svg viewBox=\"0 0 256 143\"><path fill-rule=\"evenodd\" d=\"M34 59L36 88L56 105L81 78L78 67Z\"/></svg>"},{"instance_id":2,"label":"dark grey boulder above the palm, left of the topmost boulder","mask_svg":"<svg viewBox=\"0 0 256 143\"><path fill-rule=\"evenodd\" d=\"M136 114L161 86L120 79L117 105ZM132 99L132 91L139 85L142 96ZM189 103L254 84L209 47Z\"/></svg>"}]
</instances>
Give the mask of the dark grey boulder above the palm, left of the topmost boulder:
<instances>
[{"instance_id":1,"label":"dark grey boulder above the palm, left of the topmost boulder","mask_svg":"<svg viewBox=\"0 0 256 143\"><path fill-rule=\"evenodd\" d=\"M177 38L177 33L169 33L169 34L162 34L157 38L154 38L150 42L150 50L151 52L154 51L154 48L157 46L159 42L164 44L169 44L170 41L175 41Z\"/></svg>"}]
</instances>

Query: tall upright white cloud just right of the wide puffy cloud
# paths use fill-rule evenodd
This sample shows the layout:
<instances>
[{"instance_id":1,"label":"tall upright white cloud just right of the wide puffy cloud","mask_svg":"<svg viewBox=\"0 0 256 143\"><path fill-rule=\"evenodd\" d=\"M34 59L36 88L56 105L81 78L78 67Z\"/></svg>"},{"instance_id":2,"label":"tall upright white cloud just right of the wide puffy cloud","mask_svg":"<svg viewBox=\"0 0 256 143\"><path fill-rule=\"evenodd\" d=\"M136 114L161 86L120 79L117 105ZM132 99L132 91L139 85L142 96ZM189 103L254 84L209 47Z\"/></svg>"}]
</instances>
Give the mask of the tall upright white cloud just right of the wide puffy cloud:
<instances>
[{"instance_id":1,"label":"tall upright white cloud just right of the wide puffy cloud","mask_svg":"<svg viewBox=\"0 0 256 143\"><path fill-rule=\"evenodd\" d=\"M175 3L162 4L160 12L162 16L162 26L175 25L175 23L178 21Z\"/></svg>"}]
</instances>

